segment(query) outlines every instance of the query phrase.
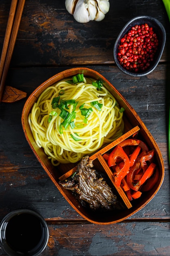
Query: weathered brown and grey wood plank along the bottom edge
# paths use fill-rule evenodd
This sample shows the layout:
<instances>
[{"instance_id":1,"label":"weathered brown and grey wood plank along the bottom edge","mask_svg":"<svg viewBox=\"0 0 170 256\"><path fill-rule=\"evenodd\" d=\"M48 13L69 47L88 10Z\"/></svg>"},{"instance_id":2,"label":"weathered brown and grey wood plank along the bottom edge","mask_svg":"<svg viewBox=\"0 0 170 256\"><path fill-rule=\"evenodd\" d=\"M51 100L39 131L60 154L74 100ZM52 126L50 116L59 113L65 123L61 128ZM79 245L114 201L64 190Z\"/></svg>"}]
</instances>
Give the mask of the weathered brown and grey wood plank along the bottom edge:
<instances>
[{"instance_id":1,"label":"weathered brown and grey wood plank along the bottom edge","mask_svg":"<svg viewBox=\"0 0 170 256\"><path fill-rule=\"evenodd\" d=\"M125 222L106 226L78 222L48 224L48 227L49 243L43 256L166 256L170 250L170 222ZM0 254L3 255L1 248Z\"/></svg>"}]
</instances>

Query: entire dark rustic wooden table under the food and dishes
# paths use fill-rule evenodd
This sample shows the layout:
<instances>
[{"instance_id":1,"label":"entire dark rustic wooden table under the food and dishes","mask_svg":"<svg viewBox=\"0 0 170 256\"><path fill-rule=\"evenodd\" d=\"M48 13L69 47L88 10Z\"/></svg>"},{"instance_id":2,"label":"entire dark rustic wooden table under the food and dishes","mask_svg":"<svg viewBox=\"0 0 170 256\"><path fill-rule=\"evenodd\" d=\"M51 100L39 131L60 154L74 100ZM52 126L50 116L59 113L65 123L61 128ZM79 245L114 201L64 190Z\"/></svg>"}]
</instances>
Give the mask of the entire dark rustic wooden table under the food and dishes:
<instances>
[{"instance_id":1,"label":"entire dark rustic wooden table under the food and dishes","mask_svg":"<svg viewBox=\"0 0 170 256\"><path fill-rule=\"evenodd\" d=\"M11 0L0 0L2 49ZM134 78L115 66L113 45L135 16L157 18L167 32L157 68ZM27 93L70 67L86 66L103 74L127 99L155 138L165 163L161 189L144 209L115 225L82 219L62 197L29 147L21 126L26 99L0 103L0 220L14 209L40 213L49 227L42 255L170 255L170 174L167 124L170 87L170 22L162 0L110 0L101 22L78 23L64 0L26 0L6 85ZM0 248L0 255L5 255Z\"/></svg>"}]
</instances>

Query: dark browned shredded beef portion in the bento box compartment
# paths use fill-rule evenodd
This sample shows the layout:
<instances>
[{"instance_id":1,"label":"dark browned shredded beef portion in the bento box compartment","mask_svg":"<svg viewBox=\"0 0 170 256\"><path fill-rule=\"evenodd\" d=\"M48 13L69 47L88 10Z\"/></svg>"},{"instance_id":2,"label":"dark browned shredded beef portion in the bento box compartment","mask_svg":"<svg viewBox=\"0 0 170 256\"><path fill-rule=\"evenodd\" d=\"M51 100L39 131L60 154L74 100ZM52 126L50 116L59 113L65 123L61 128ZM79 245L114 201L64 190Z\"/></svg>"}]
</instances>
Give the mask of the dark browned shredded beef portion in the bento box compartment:
<instances>
[{"instance_id":1,"label":"dark browned shredded beef portion in the bento box compartment","mask_svg":"<svg viewBox=\"0 0 170 256\"><path fill-rule=\"evenodd\" d=\"M120 208L116 195L113 194L104 178L99 177L97 171L93 169L93 161L88 156L82 158L74 177L62 181L60 184L65 189L76 193L79 201L83 205L85 201L93 210Z\"/></svg>"}]
</instances>

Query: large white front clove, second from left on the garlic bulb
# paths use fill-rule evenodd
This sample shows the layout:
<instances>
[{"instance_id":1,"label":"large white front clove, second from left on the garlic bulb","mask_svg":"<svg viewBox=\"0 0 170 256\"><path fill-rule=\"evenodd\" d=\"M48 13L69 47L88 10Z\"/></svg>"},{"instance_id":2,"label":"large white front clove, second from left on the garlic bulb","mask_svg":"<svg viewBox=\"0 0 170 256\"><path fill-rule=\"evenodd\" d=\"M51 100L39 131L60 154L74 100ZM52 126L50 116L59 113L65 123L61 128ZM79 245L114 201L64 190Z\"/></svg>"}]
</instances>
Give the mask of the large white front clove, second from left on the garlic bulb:
<instances>
[{"instance_id":1,"label":"large white front clove, second from left on the garlic bulb","mask_svg":"<svg viewBox=\"0 0 170 256\"><path fill-rule=\"evenodd\" d=\"M86 23L90 21L88 9L85 7L84 0L78 0L73 14L77 22Z\"/></svg>"}]
</instances>

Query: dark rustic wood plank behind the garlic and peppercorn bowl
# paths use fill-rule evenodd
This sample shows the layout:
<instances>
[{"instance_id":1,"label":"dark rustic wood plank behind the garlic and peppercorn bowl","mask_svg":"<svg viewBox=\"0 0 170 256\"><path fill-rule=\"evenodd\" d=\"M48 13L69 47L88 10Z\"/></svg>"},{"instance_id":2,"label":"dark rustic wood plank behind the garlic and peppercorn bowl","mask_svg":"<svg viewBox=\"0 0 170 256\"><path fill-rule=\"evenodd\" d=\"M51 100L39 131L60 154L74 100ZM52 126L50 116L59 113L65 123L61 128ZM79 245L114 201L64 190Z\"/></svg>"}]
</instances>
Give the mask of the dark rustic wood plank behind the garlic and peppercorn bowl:
<instances>
[{"instance_id":1,"label":"dark rustic wood plank behind the garlic and peppercorn bowl","mask_svg":"<svg viewBox=\"0 0 170 256\"><path fill-rule=\"evenodd\" d=\"M9 0L1 2L0 49L10 5ZM65 1L27 0L11 66L113 64L113 45L119 31L128 20L140 15L157 18L165 26L169 36L170 24L160 0L147 0L142 3L142 8L140 0L132 0L126 4L124 0L110 1L110 10L104 20L86 24L74 20L66 11ZM168 45L167 41L161 61L168 60Z\"/></svg>"}]
</instances>

